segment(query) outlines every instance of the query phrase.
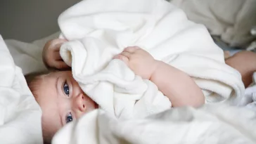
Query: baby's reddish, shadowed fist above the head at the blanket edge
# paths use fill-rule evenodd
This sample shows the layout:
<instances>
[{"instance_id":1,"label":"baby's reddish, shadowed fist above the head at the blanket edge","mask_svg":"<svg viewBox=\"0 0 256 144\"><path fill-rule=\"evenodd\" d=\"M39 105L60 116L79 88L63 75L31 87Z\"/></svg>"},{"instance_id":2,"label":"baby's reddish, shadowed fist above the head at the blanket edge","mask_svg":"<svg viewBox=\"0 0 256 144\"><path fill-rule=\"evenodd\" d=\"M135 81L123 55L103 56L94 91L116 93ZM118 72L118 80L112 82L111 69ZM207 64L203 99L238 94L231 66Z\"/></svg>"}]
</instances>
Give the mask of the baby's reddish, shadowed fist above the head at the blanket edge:
<instances>
[{"instance_id":1,"label":"baby's reddish, shadowed fist above the head at the blanket edge","mask_svg":"<svg viewBox=\"0 0 256 144\"><path fill-rule=\"evenodd\" d=\"M60 46L66 42L66 39L53 39L47 41L44 45L43 60L46 67L65 69L68 65L65 64L60 57Z\"/></svg>"}]
</instances>

